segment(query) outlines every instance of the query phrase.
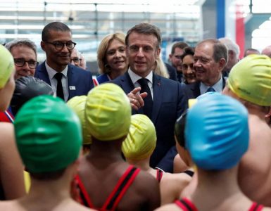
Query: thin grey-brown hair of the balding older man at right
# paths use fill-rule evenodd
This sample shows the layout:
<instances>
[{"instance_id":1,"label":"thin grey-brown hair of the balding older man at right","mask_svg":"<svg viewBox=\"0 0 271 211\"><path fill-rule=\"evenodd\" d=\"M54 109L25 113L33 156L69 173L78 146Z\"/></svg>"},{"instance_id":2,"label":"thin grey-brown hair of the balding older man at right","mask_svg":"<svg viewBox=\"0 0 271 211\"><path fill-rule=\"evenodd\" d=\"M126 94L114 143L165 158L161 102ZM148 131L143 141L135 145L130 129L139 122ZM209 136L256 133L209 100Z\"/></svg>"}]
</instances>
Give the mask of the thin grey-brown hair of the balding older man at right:
<instances>
[{"instance_id":1,"label":"thin grey-brown hair of the balding older man at right","mask_svg":"<svg viewBox=\"0 0 271 211\"><path fill-rule=\"evenodd\" d=\"M215 62L218 63L221 58L225 58L227 64L228 52L225 44L222 44L222 42L218 39L204 39L203 41L200 41L197 46L206 42L213 44L213 59L215 60Z\"/></svg>"}]
</instances>

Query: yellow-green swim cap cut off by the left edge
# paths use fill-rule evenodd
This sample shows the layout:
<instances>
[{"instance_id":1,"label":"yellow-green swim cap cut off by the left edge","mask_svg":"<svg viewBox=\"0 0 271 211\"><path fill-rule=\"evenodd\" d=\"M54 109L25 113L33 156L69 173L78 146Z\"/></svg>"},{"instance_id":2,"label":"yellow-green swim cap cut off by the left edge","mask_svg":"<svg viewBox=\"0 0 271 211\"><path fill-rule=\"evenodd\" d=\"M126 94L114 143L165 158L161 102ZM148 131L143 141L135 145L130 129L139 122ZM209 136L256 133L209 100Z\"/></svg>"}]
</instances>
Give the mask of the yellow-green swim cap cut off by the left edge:
<instances>
[{"instance_id":1,"label":"yellow-green swim cap cut off by the left edge","mask_svg":"<svg viewBox=\"0 0 271 211\"><path fill-rule=\"evenodd\" d=\"M11 73L15 70L13 56L0 44L0 89L5 87Z\"/></svg>"}]
</instances>

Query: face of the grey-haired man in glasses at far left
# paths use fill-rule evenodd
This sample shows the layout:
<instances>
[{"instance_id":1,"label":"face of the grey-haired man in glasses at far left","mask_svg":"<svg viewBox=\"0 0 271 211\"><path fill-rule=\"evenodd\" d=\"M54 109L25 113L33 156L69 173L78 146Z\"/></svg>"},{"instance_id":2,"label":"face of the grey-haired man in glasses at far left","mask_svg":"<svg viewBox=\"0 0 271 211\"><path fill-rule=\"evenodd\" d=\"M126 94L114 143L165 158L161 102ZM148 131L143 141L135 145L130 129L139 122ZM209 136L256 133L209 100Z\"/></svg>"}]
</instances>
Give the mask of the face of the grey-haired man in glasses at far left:
<instances>
[{"instance_id":1,"label":"face of the grey-haired man in glasses at far left","mask_svg":"<svg viewBox=\"0 0 271 211\"><path fill-rule=\"evenodd\" d=\"M25 45L13 46L11 48L11 54L14 59L21 59L27 62L37 61L36 53L29 46ZM30 68L28 63L25 63L25 65L23 65L22 67L15 65L15 70L16 70L14 75L15 79L18 79L19 77L23 77L25 75L34 76L35 72L35 68Z\"/></svg>"}]
</instances>

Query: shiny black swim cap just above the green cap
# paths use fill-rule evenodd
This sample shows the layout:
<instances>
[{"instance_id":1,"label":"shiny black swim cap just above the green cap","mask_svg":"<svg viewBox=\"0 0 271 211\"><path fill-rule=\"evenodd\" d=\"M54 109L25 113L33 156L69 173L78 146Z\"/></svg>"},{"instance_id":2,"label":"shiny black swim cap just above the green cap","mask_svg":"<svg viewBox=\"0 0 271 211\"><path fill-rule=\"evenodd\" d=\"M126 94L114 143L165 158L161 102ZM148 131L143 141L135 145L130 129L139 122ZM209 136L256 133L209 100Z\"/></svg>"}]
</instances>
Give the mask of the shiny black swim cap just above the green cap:
<instances>
[{"instance_id":1,"label":"shiny black swim cap just above the green cap","mask_svg":"<svg viewBox=\"0 0 271 211\"><path fill-rule=\"evenodd\" d=\"M15 80L15 90L11 99L13 115L16 115L25 102L42 94L53 95L53 89L43 80L30 75Z\"/></svg>"}]
</instances>

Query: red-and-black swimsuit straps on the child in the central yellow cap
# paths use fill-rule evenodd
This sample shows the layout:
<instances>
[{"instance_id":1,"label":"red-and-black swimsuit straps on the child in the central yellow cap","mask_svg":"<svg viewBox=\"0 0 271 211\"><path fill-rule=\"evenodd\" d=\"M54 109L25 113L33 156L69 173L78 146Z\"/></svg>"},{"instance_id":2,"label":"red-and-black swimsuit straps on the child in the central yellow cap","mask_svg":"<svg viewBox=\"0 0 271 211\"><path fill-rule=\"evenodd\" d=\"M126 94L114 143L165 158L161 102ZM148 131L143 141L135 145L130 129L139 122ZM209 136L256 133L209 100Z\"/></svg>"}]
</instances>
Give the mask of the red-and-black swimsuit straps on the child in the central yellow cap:
<instances>
[{"instance_id":1,"label":"red-and-black swimsuit straps on the child in the central yellow cap","mask_svg":"<svg viewBox=\"0 0 271 211\"><path fill-rule=\"evenodd\" d=\"M98 208L98 210L115 210L115 208L118 206L118 203L120 203L120 200L124 196L127 189L131 186L132 182L137 177L137 174L139 174L139 172L140 170L138 168L130 165L125 171L125 173L122 175L122 177L120 177L120 179L118 180L117 185L106 199L106 202L101 208ZM82 184L79 175L75 177L75 181L77 182L77 186L80 188L82 205L97 209L96 207L94 207L92 201L90 200L89 195L87 194L87 190L84 188L84 184Z\"/></svg>"}]
</instances>

